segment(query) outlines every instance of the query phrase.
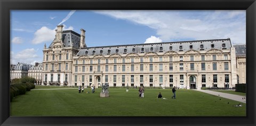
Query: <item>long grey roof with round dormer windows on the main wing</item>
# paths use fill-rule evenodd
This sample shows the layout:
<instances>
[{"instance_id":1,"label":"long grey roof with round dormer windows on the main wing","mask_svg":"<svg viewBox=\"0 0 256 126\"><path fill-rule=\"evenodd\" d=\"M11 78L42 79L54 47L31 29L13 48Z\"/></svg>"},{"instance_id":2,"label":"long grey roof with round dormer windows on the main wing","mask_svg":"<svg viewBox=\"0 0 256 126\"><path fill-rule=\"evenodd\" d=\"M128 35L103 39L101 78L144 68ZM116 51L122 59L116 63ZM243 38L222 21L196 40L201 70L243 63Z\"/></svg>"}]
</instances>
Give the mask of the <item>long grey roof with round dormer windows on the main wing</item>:
<instances>
[{"instance_id":1,"label":"long grey roof with round dormer windows on the main wing","mask_svg":"<svg viewBox=\"0 0 256 126\"><path fill-rule=\"evenodd\" d=\"M215 40L197 40L197 41L180 41L180 42L162 42L162 43L146 43L146 44L126 44L119 46L105 47L87 47L82 48L77 53L77 56L94 56L94 55L119 55L129 53L148 53L148 52L167 52L167 51L183 51L188 50L211 50L211 49L230 49L230 39L215 39Z\"/></svg>"}]
</instances>

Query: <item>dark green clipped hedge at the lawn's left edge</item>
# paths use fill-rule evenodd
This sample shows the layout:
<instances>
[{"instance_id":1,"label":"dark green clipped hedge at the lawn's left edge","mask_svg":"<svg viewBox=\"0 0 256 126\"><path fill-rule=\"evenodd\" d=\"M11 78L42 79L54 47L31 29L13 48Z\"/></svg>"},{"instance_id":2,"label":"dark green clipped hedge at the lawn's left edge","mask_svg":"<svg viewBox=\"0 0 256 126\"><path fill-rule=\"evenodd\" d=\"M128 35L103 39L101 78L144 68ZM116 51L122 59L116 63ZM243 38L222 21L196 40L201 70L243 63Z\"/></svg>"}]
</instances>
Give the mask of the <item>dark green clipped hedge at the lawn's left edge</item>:
<instances>
[{"instance_id":1,"label":"dark green clipped hedge at the lawn's left edge","mask_svg":"<svg viewBox=\"0 0 256 126\"><path fill-rule=\"evenodd\" d=\"M33 83L16 83L10 85L10 101L12 102L13 97L18 95L26 94L26 91L34 89Z\"/></svg>"}]
</instances>

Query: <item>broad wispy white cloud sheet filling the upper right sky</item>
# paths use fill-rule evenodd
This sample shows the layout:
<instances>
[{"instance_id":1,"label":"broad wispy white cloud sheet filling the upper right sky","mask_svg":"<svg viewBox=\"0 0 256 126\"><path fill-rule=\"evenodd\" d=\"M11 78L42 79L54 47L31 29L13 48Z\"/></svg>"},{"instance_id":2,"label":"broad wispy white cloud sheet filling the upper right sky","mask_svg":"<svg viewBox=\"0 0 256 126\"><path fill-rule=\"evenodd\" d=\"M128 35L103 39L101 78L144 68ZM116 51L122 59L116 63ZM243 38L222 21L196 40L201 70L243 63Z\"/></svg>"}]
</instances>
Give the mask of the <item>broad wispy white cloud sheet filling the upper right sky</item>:
<instances>
[{"instance_id":1,"label":"broad wispy white cloud sheet filling the upper right sky","mask_svg":"<svg viewBox=\"0 0 256 126\"><path fill-rule=\"evenodd\" d=\"M245 43L245 11L95 11L156 30L163 41L230 38Z\"/></svg>"}]
</instances>

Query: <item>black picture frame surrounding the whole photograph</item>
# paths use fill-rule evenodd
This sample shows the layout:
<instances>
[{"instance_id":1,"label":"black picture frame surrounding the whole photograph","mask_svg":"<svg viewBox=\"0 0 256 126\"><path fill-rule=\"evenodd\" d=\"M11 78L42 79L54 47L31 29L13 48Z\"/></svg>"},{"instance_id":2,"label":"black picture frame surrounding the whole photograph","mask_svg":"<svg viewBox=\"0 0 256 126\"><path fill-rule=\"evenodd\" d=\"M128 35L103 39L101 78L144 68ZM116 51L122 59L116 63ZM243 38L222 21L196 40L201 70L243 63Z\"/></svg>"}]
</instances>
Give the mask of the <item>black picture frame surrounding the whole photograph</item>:
<instances>
[{"instance_id":1,"label":"black picture frame surrounding the whole photograph","mask_svg":"<svg viewBox=\"0 0 256 126\"><path fill-rule=\"evenodd\" d=\"M0 8L1 125L255 125L255 0L0 0ZM246 10L247 116L10 116L10 10Z\"/></svg>"}]
</instances>

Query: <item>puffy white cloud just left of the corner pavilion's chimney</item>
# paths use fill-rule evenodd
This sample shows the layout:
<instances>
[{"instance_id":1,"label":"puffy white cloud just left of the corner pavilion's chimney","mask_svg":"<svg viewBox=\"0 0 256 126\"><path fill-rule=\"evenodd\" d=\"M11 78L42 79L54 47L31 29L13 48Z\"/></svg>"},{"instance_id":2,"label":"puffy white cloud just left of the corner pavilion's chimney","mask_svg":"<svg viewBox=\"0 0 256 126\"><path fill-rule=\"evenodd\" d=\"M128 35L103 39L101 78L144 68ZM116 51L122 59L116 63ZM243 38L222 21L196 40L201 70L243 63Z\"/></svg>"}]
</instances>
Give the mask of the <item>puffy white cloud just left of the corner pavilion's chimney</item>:
<instances>
[{"instance_id":1,"label":"puffy white cloud just left of the corner pavilion's chimney","mask_svg":"<svg viewBox=\"0 0 256 126\"><path fill-rule=\"evenodd\" d=\"M51 30L46 26L43 26L41 29L38 29L34 33L34 39L32 40L33 44L39 44L42 42L53 41L55 37L55 30Z\"/></svg>"}]
</instances>

